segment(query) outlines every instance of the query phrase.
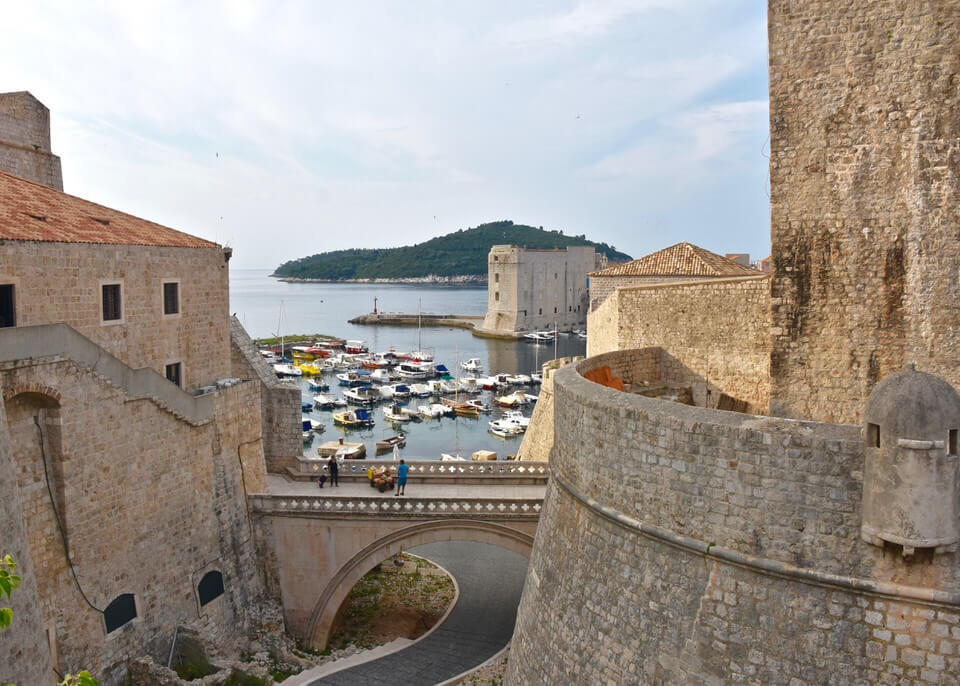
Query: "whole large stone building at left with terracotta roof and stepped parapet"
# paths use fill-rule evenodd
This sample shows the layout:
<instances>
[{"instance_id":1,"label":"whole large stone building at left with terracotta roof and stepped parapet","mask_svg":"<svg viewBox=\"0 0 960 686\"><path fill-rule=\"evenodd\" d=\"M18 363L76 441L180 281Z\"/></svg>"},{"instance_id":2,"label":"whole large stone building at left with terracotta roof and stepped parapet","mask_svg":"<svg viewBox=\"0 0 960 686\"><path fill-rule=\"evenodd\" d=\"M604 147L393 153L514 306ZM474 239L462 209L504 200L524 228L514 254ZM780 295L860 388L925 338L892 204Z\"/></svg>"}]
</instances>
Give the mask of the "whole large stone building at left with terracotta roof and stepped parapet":
<instances>
[{"instance_id":1,"label":"whole large stone building at left with terracotta roof and stepped parapet","mask_svg":"<svg viewBox=\"0 0 960 686\"><path fill-rule=\"evenodd\" d=\"M126 683L178 626L225 647L256 626L246 496L285 450L266 434L299 437L268 405L299 391L268 385L231 322L229 259L0 172L0 554L24 576L4 683Z\"/></svg>"}]
</instances>

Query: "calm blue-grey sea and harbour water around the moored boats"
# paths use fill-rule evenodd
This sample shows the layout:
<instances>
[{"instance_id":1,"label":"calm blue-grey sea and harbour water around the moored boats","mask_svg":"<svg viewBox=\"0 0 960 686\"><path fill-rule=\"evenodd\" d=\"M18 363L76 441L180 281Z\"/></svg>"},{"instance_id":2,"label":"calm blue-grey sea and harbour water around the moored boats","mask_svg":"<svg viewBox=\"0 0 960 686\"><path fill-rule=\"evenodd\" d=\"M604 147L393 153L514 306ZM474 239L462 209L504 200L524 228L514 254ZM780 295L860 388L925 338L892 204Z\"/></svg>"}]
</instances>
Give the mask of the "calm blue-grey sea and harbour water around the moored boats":
<instances>
[{"instance_id":1,"label":"calm blue-grey sea and harbour water around the moored boats","mask_svg":"<svg viewBox=\"0 0 960 686\"><path fill-rule=\"evenodd\" d=\"M424 326L372 326L350 324L360 314L373 312L374 301L378 312L414 314L484 315L487 310L487 289L475 285L426 284L357 284L357 283L291 283L270 277L271 270L235 269L230 272L230 311L239 318L253 338L267 338L293 334L326 334L344 339L367 342L371 351L430 350L434 361L447 366L456 374L457 361L478 357L483 361L480 375L524 373L539 370L544 362L555 357L583 355L586 341L574 335L560 334L551 344L523 341L504 341L477 338L467 329ZM336 378L325 379L333 395L340 394ZM314 393L307 381L298 382L304 401ZM520 387L531 394L539 393L537 386ZM497 419L501 410L494 403L492 392L478 396L491 407L490 414L479 417L442 417L440 419L407 422L402 431L406 445L400 449L402 457L413 460L439 460L442 453L460 455L469 460L477 450L491 450L498 458L515 455L522 436L501 438L491 434L488 422ZM424 400L411 400L420 404ZM381 404L382 405L382 404ZM533 406L527 405L524 414L530 416ZM313 410L304 417L325 425L322 433L304 443L304 455L316 455L317 447L344 436L351 442L363 442L367 457L376 457L376 442L397 433L383 418L380 406L374 409L376 424L369 429L355 430L334 426L330 411ZM390 458L391 453L381 455Z\"/></svg>"}]
</instances>

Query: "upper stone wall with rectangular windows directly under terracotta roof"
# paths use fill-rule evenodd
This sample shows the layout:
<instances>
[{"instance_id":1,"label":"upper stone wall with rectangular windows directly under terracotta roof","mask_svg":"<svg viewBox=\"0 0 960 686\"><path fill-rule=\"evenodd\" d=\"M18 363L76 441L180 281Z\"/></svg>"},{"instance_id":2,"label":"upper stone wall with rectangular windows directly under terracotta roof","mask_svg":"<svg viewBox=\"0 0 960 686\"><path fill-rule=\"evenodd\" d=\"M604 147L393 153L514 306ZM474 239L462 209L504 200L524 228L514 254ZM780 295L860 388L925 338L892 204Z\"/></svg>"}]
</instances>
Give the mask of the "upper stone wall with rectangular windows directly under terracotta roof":
<instances>
[{"instance_id":1,"label":"upper stone wall with rectangular windows directly under terracotta roof","mask_svg":"<svg viewBox=\"0 0 960 686\"><path fill-rule=\"evenodd\" d=\"M227 261L220 248L6 241L0 283L14 285L17 326L63 322L133 368L183 387L230 376ZM179 282L180 312L163 314L163 283ZM102 321L101 285L121 284L122 319Z\"/></svg>"}]
</instances>

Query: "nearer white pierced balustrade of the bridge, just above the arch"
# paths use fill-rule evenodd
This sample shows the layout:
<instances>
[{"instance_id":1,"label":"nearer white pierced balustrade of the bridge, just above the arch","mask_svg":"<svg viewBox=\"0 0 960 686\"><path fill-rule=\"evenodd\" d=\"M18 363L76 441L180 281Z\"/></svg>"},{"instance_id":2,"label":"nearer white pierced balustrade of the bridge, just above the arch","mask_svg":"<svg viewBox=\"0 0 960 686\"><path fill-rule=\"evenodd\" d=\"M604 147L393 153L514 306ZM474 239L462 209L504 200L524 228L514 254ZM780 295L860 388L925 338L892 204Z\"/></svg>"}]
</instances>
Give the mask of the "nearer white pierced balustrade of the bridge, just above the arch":
<instances>
[{"instance_id":1,"label":"nearer white pierced balustrade of the bridge, just above the arch","mask_svg":"<svg viewBox=\"0 0 960 686\"><path fill-rule=\"evenodd\" d=\"M259 514L537 519L542 498L418 498L252 495Z\"/></svg>"}]
</instances>

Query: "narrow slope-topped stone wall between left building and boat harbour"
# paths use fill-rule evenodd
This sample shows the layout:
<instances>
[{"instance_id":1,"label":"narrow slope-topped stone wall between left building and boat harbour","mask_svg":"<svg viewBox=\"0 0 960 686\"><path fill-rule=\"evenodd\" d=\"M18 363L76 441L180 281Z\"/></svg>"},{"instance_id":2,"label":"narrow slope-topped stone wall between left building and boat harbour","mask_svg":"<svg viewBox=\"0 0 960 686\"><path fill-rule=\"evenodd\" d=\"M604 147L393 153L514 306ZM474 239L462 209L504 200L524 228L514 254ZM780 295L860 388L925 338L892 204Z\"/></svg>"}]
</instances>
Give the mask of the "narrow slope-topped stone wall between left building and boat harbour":
<instances>
[{"instance_id":1,"label":"narrow slope-topped stone wall between left building and boat harbour","mask_svg":"<svg viewBox=\"0 0 960 686\"><path fill-rule=\"evenodd\" d=\"M286 473L287 467L296 467L297 458L303 455L300 388L277 378L236 317L230 318L230 342L232 375L260 382L266 469L268 472ZM249 488L247 490L257 492Z\"/></svg>"}]
</instances>

